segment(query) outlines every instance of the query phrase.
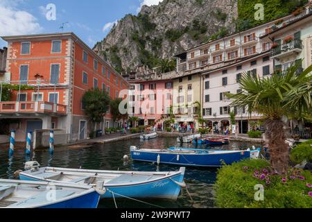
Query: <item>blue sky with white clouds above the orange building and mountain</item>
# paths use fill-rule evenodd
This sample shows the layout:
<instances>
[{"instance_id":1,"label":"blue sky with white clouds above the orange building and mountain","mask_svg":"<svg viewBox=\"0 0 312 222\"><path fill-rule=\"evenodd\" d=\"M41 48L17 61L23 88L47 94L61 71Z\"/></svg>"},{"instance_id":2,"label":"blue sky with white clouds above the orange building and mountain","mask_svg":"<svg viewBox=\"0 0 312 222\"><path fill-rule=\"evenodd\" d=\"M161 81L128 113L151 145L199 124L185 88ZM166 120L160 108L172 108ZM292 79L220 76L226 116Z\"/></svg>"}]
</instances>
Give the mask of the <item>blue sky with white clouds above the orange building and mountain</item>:
<instances>
[{"instance_id":1,"label":"blue sky with white clouds above the orange building and mountain","mask_svg":"<svg viewBox=\"0 0 312 222\"><path fill-rule=\"evenodd\" d=\"M107 35L112 24L126 14L162 0L0 0L0 36L73 31L89 46ZM46 19L46 6L55 6L55 20ZM51 9L51 8L50 8ZM6 42L0 39L0 48Z\"/></svg>"}]
</instances>

